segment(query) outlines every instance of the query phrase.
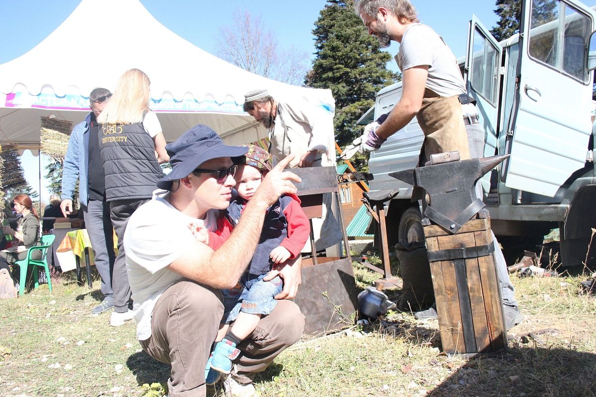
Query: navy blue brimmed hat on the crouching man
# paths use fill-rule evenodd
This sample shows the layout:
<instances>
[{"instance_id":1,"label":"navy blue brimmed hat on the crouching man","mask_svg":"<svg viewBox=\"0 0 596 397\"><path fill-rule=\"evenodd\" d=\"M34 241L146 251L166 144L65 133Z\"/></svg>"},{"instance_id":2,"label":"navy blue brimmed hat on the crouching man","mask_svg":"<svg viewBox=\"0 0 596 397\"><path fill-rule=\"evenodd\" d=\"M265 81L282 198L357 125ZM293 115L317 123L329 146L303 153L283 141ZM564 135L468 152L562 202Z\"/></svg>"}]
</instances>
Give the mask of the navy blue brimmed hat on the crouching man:
<instances>
[{"instance_id":1,"label":"navy blue brimmed hat on the crouching man","mask_svg":"<svg viewBox=\"0 0 596 397\"><path fill-rule=\"evenodd\" d=\"M224 145L218 133L198 124L175 142L166 145L172 171L157 182L157 187L169 190L173 181L189 176L203 162L220 157L232 157L232 160L236 160L234 157L243 156L248 150L249 148L243 146Z\"/></svg>"}]
</instances>

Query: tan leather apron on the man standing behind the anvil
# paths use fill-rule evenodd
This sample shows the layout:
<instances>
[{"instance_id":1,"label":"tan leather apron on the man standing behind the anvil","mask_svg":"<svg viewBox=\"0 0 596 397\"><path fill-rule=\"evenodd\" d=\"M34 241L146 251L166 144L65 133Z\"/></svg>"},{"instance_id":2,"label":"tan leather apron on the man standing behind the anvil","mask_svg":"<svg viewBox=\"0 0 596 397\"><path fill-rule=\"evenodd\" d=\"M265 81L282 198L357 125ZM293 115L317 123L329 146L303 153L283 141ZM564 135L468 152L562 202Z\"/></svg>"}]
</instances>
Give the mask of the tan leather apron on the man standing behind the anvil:
<instances>
[{"instance_id":1,"label":"tan leather apron on the man standing behind the anvil","mask_svg":"<svg viewBox=\"0 0 596 397\"><path fill-rule=\"evenodd\" d=\"M461 160L470 158L464 113L457 95L440 96L433 90L424 89L422 107L416 118L424 132L418 167L423 167L430 155L442 152L458 151ZM412 201L420 200L423 191L420 187L414 187Z\"/></svg>"}]
</instances>

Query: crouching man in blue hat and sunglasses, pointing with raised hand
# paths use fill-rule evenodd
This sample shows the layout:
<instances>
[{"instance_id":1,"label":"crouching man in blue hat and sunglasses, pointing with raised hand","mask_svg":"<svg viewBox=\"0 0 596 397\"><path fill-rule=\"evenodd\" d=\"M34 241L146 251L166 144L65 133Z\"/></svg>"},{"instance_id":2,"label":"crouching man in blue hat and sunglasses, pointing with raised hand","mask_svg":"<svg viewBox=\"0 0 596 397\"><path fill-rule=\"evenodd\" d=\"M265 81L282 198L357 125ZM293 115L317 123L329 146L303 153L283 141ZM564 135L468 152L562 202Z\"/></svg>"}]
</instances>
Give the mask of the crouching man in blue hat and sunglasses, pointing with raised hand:
<instances>
[{"instance_id":1,"label":"crouching man in blue hat and sunglasses, pointing with raised hand","mask_svg":"<svg viewBox=\"0 0 596 397\"><path fill-rule=\"evenodd\" d=\"M263 179L229 238L213 251L191 229L226 227L221 210L228 208L235 162L247 148L226 146L215 131L198 125L166 149L172 171L126 228L126 270L137 338L147 354L172 365L169 395L204 396L207 360L224 314L220 289L236 285L257 246L259 233L254 231L262 229L266 209L280 195L296 193L291 181L300 179L283 171L292 157L281 160ZM254 374L302 335L304 316L288 300L300 285L300 259L275 267L268 277L275 276L284 281L275 297L278 304L238 344L240 355L224 381L232 396L254 395Z\"/></svg>"}]
</instances>

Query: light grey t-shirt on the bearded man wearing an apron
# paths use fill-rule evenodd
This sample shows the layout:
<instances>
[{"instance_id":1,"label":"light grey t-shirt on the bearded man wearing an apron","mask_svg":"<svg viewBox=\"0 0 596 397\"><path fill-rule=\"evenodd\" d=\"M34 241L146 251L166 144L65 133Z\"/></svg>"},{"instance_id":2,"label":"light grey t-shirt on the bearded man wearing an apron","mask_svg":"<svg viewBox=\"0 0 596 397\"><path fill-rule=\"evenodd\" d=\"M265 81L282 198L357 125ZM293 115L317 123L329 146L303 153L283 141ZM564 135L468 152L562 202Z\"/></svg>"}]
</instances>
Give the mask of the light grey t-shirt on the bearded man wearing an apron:
<instances>
[{"instance_id":1,"label":"light grey t-shirt on the bearded man wearing an apron","mask_svg":"<svg viewBox=\"0 0 596 397\"><path fill-rule=\"evenodd\" d=\"M429 26L414 23L406 27L395 61L402 71L415 66L429 65L426 87L440 96L454 96L466 92L455 55L442 37Z\"/></svg>"}]
</instances>

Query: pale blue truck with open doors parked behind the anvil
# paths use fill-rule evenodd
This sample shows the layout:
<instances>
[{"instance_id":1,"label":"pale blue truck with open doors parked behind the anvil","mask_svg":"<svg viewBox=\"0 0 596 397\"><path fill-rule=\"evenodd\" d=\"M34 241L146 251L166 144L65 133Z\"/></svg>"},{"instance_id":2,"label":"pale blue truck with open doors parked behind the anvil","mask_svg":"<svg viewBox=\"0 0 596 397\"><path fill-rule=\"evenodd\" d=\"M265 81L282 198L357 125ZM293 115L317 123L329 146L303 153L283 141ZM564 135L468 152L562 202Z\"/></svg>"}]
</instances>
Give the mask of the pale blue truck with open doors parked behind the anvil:
<instances>
[{"instance_id":1,"label":"pale blue truck with open doors parked behind the anvil","mask_svg":"<svg viewBox=\"0 0 596 397\"><path fill-rule=\"evenodd\" d=\"M510 261L558 228L563 265L581 265L594 260L596 229L596 12L575 0L522 7L520 33L501 42L473 16L458 60L486 132L485 156L511 155L482 180L485 202ZM401 83L380 90L361 123L389 112L401 92ZM414 118L371 153L371 192L399 190L386 206L390 245L424 237L412 187L388 175L415 167L422 142Z\"/></svg>"}]
</instances>

